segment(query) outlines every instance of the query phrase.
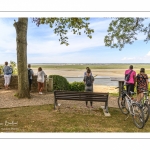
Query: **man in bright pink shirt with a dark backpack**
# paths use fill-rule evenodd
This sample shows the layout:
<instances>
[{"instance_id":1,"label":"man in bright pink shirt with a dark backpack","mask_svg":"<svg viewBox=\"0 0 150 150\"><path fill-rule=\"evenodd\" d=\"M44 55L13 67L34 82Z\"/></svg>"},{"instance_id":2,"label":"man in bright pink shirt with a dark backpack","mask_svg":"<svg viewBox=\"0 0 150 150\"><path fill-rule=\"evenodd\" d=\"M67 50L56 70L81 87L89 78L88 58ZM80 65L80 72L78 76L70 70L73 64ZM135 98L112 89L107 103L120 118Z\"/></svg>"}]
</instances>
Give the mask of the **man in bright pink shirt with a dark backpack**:
<instances>
[{"instance_id":1,"label":"man in bright pink shirt with a dark backpack","mask_svg":"<svg viewBox=\"0 0 150 150\"><path fill-rule=\"evenodd\" d=\"M125 76L129 75L129 79L126 82L127 94L131 96L130 91L134 92L136 72L133 70L133 65L129 66L129 69L125 71Z\"/></svg>"}]
</instances>

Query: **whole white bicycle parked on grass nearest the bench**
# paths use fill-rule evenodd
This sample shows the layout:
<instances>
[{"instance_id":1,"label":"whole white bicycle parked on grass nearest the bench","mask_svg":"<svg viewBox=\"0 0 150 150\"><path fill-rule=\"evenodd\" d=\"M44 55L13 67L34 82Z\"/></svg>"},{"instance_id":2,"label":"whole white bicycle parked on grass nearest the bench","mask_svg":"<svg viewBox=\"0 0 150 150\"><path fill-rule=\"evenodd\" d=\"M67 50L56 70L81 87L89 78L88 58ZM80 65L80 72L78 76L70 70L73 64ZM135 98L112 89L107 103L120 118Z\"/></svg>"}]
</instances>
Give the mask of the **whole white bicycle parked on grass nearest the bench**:
<instances>
[{"instance_id":1,"label":"whole white bicycle parked on grass nearest the bench","mask_svg":"<svg viewBox=\"0 0 150 150\"><path fill-rule=\"evenodd\" d=\"M123 86L124 87L124 86ZM117 87L119 88L119 87ZM134 95L134 92L131 92ZM132 100L132 98L127 94L127 91L123 88L121 91L121 96L118 98L118 106L121 112L125 115L132 115L133 122L135 126L142 129L145 125L143 107ZM127 116L127 118L129 117ZM127 118L125 120L127 120Z\"/></svg>"}]
</instances>

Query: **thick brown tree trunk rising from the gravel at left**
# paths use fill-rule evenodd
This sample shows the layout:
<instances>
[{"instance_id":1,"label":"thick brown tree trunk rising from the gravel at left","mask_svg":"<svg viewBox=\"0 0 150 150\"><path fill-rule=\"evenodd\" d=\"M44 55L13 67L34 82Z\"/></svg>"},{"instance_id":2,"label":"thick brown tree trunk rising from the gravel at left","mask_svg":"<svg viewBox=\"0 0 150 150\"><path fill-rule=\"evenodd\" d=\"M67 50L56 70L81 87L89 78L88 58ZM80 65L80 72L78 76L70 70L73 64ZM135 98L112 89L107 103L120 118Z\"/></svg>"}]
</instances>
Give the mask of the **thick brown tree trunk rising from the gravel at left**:
<instances>
[{"instance_id":1,"label":"thick brown tree trunk rising from the gravel at left","mask_svg":"<svg viewBox=\"0 0 150 150\"><path fill-rule=\"evenodd\" d=\"M17 67L18 67L18 97L30 98L28 72L27 72L27 26L28 18L18 18L14 23L17 43Z\"/></svg>"}]
</instances>

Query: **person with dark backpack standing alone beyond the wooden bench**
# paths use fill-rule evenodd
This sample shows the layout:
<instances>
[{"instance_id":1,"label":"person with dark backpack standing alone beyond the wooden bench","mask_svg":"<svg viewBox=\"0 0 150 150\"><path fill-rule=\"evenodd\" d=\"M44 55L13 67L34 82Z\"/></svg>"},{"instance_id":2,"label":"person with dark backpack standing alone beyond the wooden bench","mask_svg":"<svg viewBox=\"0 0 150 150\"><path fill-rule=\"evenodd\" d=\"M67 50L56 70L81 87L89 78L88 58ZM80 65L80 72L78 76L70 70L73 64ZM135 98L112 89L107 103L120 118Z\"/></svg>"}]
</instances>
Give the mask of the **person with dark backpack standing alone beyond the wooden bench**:
<instances>
[{"instance_id":1,"label":"person with dark backpack standing alone beyond the wooden bench","mask_svg":"<svg viewBox=\"0 0 150 150\"><path fill-rule=\"evenodd\" d=\"M90 68L87 68L87 73L84 76L83 79L84 83L85 83L85 91L86 92L93 92L93 82L94 82L94 77L91 75L91 70ZM90 101L91 104L91 108L93 108L92 106L92 101ZM88 101L86 101L86 107L88 107Z\"/></svg>"}]
</instances>

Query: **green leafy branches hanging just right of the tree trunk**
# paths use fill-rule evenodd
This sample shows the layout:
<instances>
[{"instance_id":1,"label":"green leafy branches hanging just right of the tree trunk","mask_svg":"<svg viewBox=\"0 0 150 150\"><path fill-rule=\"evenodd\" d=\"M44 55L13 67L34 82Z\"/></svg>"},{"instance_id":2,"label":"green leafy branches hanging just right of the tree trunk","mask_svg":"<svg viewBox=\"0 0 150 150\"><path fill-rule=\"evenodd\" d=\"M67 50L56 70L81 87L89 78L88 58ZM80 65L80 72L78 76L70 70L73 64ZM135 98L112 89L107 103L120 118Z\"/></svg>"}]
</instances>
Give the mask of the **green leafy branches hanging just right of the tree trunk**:
<instances>
[{"instance_id":1,"label":"green leafy branches hanging just right of the tree trunk","mask_svg":"<svg viewBox=\"0 0 150 150\"><path fill-rule=\"evenodd\" d=\"M33 22L37 26L41 24L49 24L50 28L54 28L54 33L60 36L60 44L69 45L68 37L66 36L68 29L73 32L73 34L81 35L82 30L89 37L92 38L93 29L89 28L90 18L33 18Z\"/></svg>"}]
</instances>

